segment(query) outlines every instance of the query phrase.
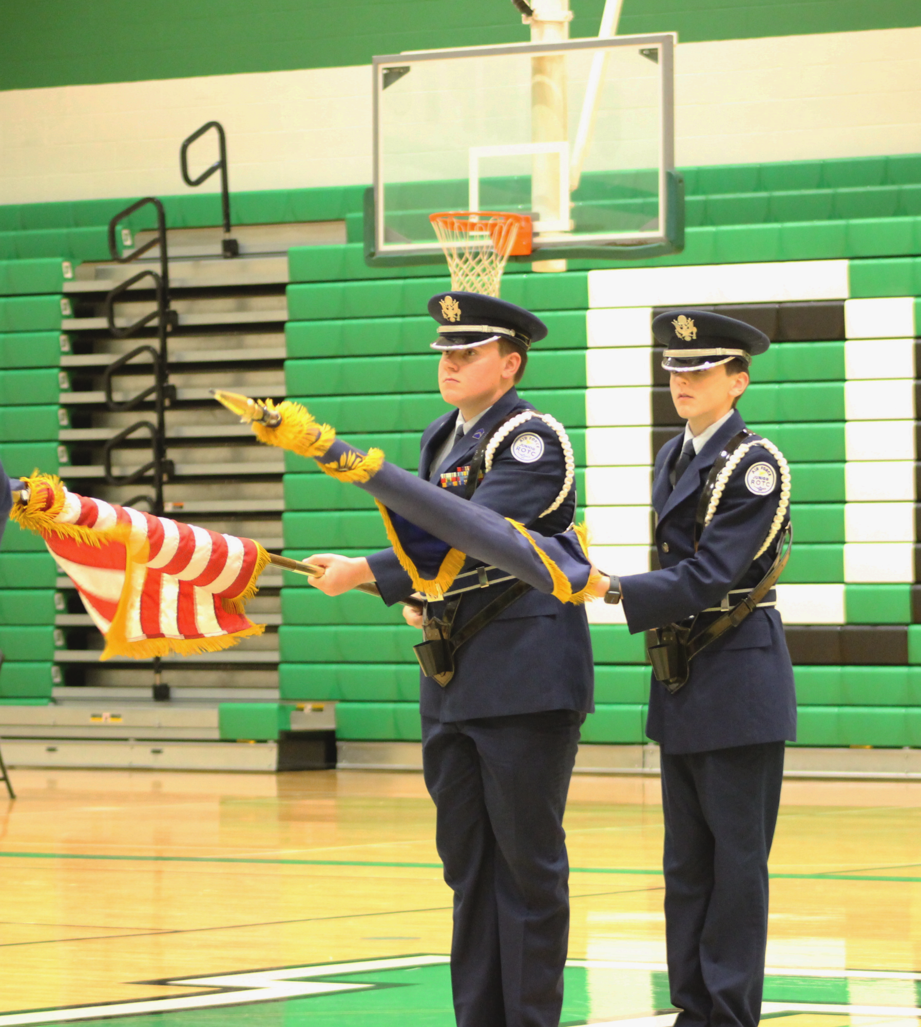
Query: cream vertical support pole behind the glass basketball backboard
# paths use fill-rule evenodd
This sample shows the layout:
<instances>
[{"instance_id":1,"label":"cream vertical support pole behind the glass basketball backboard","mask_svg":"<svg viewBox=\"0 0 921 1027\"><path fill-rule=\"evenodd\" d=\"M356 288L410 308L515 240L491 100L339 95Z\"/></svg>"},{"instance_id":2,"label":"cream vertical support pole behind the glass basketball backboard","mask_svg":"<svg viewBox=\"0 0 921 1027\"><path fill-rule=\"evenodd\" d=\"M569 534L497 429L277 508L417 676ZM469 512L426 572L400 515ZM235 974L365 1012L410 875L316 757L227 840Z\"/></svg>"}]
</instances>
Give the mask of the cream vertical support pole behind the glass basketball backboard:
<instances>
[{"instance_id":1,"label":"cream vertical support pole behind the glass basketball backboard","mask_svg":"<svg viewBox=\"0 0 921 1027\"><path fill-rule=\"evenodd\" d=\"M569 0L538 0L534 14L524 21L531 24L532 43L555 43L569 39L572 11ZM566 56L541 54L531 59L531 140L534 143L560 143L569 139ZM553 154L536 153L531 177L531 204L540 221L569 221L567 207L561 211L560 175L562 160ZM565 260L538 260L532 271L565 271Z\"/></svg>"}]
</instances>

